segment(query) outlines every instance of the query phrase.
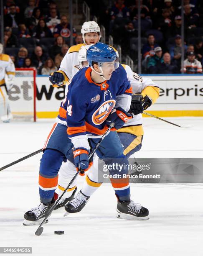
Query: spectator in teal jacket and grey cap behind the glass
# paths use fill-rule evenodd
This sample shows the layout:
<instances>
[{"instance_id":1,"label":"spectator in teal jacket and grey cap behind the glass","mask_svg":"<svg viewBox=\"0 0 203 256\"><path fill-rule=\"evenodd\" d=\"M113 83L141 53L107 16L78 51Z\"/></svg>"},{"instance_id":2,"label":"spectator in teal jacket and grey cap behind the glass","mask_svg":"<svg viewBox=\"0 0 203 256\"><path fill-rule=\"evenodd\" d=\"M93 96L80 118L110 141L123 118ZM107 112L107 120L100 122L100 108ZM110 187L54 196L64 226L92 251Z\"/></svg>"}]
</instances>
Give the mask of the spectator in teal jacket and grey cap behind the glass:
<instances>
[{"instance_id":1,"label":"spectator in teal jacket and grey cap behind the glass","mask_svg":"<svg viewBox=\"0 0 203 256\"><path fill-rule=\"evenodd\" d=\"M162 49L160 46L158 46L155 48L155 55L150 57L147 64L148 74L157 74L157 67L161 63L163 63Z\"/></svg>"}]
</instances>

